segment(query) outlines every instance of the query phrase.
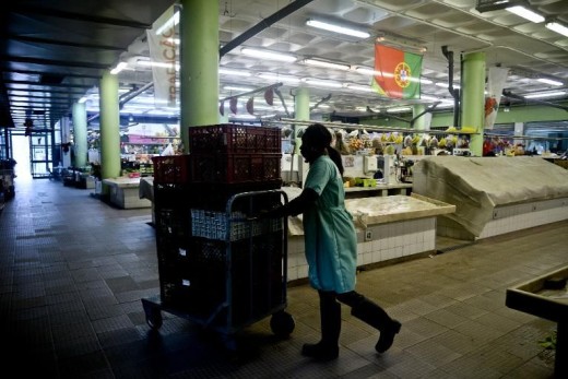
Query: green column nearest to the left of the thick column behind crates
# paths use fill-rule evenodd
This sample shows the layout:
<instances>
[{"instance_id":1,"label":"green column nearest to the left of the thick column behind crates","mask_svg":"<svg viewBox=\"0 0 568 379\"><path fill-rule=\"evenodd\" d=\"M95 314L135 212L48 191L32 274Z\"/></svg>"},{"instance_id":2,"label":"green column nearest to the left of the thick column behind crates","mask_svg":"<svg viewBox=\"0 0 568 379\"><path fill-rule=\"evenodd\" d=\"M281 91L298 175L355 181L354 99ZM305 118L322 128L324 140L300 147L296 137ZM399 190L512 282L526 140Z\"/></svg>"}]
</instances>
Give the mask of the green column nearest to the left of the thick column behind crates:
<instances>
[{"instance_id":1,"label":"green column nearest to the left of the thick column behind crates","mask_svg":"<svg viewBox=\"0 0 568 379\"><path fill-rule=\"evenodd\" d=\"M100 176L103 179L120 176L120 110L118 107L118 78L105 72L99 87L100 108ZM107 193L108 189L103 192Z\"/></svg>"}]
</instances>

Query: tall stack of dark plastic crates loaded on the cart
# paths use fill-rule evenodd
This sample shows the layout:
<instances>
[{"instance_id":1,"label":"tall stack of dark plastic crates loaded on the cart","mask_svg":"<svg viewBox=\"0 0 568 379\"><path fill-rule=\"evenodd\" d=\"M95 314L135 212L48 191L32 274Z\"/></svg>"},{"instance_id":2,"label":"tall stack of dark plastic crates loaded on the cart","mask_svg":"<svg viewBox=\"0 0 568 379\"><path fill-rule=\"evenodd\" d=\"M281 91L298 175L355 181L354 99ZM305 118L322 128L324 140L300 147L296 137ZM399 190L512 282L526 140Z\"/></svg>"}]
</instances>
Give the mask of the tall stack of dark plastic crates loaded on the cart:
<instances>
[{"instance_id":1,"label":"tall stack of dark plastic crates loaded on the cart","mask_svg":"<svg viewBox=\"0 0 568 379\"><path fill-rule=\"evenodd\" d=\"M206 319L230 292L233 322L246 323L284 301L283 225L232 218L276 206L281 194L255 198L252 210L250 198L237 198L230 209L227 202L237 193L280 189L281 133L240 125L194 127L189 150L153 158L162 303Z\"/></svg>"}]
</instances>

